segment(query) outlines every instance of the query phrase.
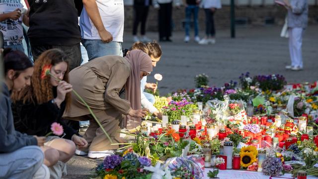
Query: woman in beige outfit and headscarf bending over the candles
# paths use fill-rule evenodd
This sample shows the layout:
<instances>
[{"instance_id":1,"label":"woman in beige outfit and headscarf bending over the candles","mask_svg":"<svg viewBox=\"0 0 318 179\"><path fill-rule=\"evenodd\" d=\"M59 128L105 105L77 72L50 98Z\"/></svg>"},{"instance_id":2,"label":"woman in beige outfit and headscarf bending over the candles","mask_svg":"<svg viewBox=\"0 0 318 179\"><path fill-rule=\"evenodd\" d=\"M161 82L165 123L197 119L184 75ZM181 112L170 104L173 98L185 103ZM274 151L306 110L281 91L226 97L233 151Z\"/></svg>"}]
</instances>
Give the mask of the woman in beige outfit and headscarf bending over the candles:
<instances>
[{"instance_id":1,"label":"woman in beige outfit and headscarf bending over the candles","mask_svg":"<svg viewBox=\"0 0 318 179\"><path fill-rule=\"evenodd\" d=\"M140 125L146 111L141 109L140 81L153 71L148 54L133 50L126 57L104 56L96 58L70 72L73 88L91 107L105 131L113 142L120 141L119 129L122 126L122 114L125 114L124 126L133 128ZM120 98L125 89L125 98ZM72 120L90 120L84 135L89 150L77 151L78 155L89 158L101 158L112 153L118 145L110 145L102 129L91 117L85 105L75 96L72 97L71 110L64 117ZM129 120L128 120L129 119Z\"/></svg>"}]
</instances>

